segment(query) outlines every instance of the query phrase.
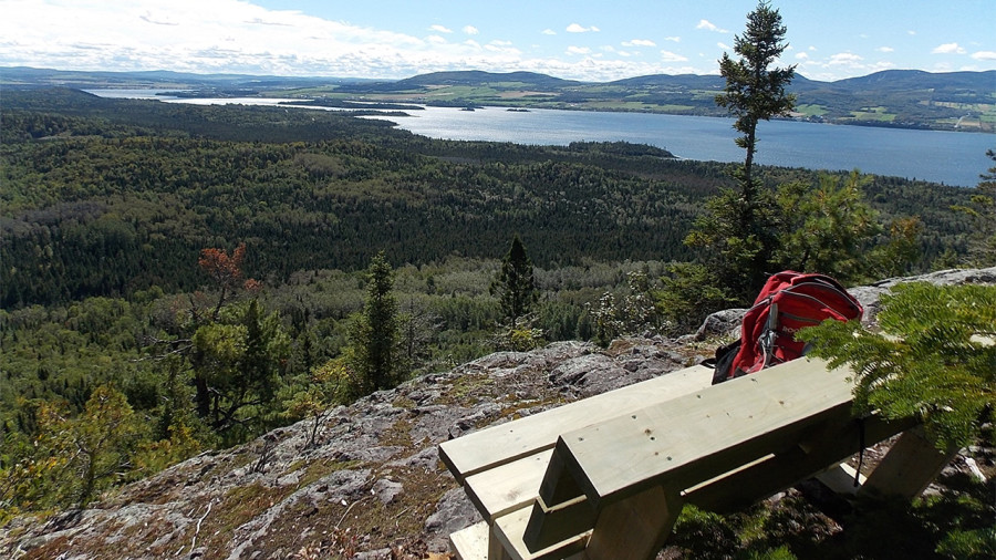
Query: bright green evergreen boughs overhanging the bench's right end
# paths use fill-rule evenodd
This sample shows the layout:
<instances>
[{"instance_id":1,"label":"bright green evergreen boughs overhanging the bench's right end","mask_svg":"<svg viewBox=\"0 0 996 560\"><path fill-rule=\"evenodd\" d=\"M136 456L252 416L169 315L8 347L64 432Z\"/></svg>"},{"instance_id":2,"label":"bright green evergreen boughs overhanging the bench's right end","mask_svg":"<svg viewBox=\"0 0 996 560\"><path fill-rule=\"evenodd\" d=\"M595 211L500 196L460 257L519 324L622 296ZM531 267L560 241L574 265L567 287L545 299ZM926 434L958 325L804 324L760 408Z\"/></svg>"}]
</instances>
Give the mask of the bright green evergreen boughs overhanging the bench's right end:
<instances>
[{"instance_id":1,"label":"bright green evergreen boughs overhanging the bench's right end","mask_svg":"<svg viewBox=\"0 0 996 560\"><path fill-rule=\"evenodd\" d=\"M882 332L824 321L799 338L850 364L858 414L917 418L941 449L972 444L996 421L996 286L899 284L878 319Z\"/></svg>"}]
</instances>

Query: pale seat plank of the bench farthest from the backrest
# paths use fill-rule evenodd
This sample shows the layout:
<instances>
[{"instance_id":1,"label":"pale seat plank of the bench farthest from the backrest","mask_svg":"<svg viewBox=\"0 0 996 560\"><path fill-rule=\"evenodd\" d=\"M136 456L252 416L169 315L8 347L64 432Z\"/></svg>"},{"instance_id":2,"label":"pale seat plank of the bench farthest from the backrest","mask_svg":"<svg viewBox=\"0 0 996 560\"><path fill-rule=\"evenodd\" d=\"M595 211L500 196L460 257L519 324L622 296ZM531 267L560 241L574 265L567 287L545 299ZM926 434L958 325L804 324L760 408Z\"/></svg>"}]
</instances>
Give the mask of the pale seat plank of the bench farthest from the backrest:
<instances>
[{"instance_id":1,"label":"pale seat plank of the bench farthest from the backrest","mask_svg":"<svg viewBox=\"0 0 996 560\"><path fill-rule=\"evenodd\" d=\"M532 416L488 427L439 445L439 457L459 484L477 473L550 449L570 427L603 422L650 403L712 384L713 370L696 365Z\"/></svg>"}]
</instances>

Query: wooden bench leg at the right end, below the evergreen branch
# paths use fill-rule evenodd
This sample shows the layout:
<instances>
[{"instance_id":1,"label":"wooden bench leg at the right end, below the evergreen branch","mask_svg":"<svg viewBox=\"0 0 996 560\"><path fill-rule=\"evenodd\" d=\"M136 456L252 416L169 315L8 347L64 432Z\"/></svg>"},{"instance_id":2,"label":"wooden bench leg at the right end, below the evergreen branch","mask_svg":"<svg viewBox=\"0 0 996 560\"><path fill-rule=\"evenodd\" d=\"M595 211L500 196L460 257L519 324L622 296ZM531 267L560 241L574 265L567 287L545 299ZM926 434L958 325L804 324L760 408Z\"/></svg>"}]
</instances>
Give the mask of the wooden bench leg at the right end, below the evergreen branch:
<instances>
[{"instance_id":1,"label":"wooden bench leg at the right end, below the evergreen branch","mask_svg":"<svg viewBox=\"0 0 996 560\"><path fill-rule=\"evenodd\" d=\"M957 448L946 452L937 449L922 426L907 429L869 475L859 494L913 499L923 492L957 453Z\"/></svg>"}]
</instances>

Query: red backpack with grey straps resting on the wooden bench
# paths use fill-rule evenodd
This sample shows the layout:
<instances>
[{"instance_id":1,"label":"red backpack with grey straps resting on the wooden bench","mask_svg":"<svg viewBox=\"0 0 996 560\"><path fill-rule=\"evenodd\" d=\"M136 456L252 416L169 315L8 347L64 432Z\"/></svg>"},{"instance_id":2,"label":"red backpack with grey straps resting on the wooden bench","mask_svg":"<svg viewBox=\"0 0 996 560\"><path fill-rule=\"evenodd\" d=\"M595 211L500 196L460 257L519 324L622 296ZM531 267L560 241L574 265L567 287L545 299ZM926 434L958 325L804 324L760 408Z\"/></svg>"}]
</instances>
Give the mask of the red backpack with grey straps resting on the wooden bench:
<instances>
[{"instance_id":1,"label":"red backpack with grey straps resting on the wooden bench","mask_svg":"<svg viewBox=\"0 0 996 560\"><path fill-rule=\"evenodd\" d=\"M807 350L796 340L800 329L826 319L860 319L863 312L858 300L828 276L779 272L744 314L740 339L716 351L713 384L795 360Z\"/></svg>"}]
</instances>

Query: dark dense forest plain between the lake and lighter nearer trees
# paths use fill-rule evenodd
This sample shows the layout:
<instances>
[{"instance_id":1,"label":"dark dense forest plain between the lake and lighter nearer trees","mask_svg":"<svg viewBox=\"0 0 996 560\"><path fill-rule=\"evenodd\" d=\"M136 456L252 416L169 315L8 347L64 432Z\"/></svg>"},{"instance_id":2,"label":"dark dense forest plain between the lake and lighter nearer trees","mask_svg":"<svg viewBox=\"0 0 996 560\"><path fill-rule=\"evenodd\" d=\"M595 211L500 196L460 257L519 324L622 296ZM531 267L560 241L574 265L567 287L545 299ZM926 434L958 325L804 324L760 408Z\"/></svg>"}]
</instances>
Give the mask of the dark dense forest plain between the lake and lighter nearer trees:
<instances>
[{"instance_id":1,"label":"dark dense forest plain between the lake and lighter nearer trees","mask_svg":"<svg viewBox=\"0 0 996 560\"><path fill-rule=\"evenodd\" d=\"M382 249L402 263L494 258L513 232L541 267L686 260L696 209L729 180L727 166L654 148L430 142L331 112L37 96L6 98L4 308L190 290L191 255L239 242L248 272L277 281L355 270ZM921 215L925 261L964 232L947 211L964 189L879 178L867 193L885 215Z\"/></svg>"}]
</instances>

